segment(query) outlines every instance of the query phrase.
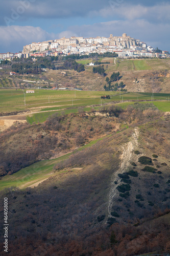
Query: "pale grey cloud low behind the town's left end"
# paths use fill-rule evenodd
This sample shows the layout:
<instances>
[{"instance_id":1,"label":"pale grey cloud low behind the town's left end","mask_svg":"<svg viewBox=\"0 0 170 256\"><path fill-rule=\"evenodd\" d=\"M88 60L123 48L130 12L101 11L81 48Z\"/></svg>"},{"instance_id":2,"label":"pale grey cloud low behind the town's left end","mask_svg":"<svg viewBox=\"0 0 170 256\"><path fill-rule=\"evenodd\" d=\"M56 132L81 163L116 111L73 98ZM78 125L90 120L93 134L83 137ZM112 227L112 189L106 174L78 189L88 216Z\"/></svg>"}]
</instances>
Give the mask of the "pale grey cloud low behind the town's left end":
<instances>
[{"instance_id":1,"label":"pale grey cloud low behind the town's left end","mask_svg":"<svg viewBox=\"0 0 170 256\"><path fill-rule=\"evenodd\" d=\"M49 34L40 27L31 26L9 26L0 27L0 52L22 51L24 45L31 42L44 41L55 38L57 35Z\"/></svg>"}]
</instances>

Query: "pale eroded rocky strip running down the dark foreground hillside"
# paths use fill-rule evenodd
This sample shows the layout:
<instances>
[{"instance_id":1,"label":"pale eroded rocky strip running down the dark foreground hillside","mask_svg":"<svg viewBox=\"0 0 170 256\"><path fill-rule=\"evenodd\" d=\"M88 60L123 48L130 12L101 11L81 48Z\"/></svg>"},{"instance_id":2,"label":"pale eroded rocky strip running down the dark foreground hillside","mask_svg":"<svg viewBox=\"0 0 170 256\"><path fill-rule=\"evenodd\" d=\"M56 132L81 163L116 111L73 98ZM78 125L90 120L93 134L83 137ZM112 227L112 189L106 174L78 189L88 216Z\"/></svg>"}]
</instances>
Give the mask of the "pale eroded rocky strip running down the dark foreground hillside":
<instances>
[{"instance_id":1,"label":"pale eroded rocky strip running down the dark foreground hillside","mask_svg":"<svg viewBox=\"0 0 170 256\"><path fill-rule=\"evenodd\" d=\"M135 128L130 141L122 146L123 153L120 156L120 159L122 160L122 164L120 165L120 168L112 175L111 183L110 183L110 193L108 196L109 216L111 216L110 212L112 211L114 199L118 197L118 190L116 189L116 187L120 183L120 179L117 180L118 174L122 174L126 172L128 167L130 166L130 163L134 160L133 159L134 154L132 154L132 151L136 150L139 146L138 138L139 138L139 131L138 131L138 128ZM117 181L117 184L114 183L115 180Z\"/></svg>"}]
</instances>

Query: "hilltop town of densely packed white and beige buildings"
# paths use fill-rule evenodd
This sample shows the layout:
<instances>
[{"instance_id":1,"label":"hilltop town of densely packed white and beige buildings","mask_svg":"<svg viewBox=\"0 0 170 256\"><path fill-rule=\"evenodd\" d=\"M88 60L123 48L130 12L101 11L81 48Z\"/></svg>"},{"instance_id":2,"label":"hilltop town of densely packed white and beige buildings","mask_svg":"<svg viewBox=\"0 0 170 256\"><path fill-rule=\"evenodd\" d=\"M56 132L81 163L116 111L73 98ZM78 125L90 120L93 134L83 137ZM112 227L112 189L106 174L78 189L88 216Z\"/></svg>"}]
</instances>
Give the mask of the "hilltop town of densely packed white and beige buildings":
<instances>
[{"instance_id":1,"label":"hilltop town of densely packed white and beige buildings","mask_svg":"<svg viewBox=\"0 0 170 256\"><path fill-rule=\"evenodd\" d=\"M1 59L12 59L14 57L44 57L44 56L58 56L60 54L81 54L88 55L91 53L105 53L115 52L118 57L122 58L135 58L135 57L158 57L167 58L170 57L168 51L161 51L158 48L155 49L139 39L134 39L127 34L122 36L110 37L76 37L61 38L55 40L47 40L43 42L32 42L30 45L23 46L22 52L19 53L0 53Z\"/></svg>"}]
</instances>

